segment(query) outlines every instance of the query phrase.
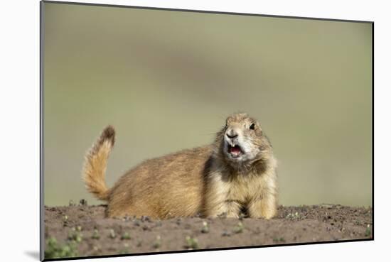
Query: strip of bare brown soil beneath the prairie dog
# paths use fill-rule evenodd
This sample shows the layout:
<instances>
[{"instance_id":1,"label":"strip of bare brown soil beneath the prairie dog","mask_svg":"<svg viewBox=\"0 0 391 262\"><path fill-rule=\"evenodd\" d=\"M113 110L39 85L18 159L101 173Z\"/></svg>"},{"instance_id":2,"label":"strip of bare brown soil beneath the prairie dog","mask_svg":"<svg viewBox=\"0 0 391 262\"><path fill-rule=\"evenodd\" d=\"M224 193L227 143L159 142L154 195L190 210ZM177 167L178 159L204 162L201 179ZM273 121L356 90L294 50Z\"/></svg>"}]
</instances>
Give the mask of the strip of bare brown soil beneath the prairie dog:
<instances>
[{"instance_id":1,"label":"strip of bare brown soil beneath the prairie dog","mask_svg":"<svg viewBox=\"0 0 391 262\"><path fill-rule=\"evenodd\" d=\"M45 258L373 239L373 210L319 204L279 207L274 219L105 217L105 205L45 207ZM50 250L49 250L50 249ZM62 252L62 253L61 253Z\"/></svg>"}]
</instances>

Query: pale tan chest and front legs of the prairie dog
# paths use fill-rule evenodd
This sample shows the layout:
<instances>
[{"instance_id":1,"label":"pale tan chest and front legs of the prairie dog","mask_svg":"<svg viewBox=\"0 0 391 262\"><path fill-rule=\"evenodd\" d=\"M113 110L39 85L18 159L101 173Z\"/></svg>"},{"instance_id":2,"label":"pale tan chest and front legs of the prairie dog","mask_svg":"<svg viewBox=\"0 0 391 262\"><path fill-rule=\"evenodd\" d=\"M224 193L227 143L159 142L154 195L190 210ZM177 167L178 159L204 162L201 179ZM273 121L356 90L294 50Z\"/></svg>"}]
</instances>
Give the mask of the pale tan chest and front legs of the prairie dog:
<instances>
[{"instance_id":1,"label":"pale tan chest and front legs of the prairie dog","mask_svg":"<svg viewBox=\"0 0 391 262\"><path fill-rule=\"evenodd\" d=\"M246 209L252 217L273 217L277 212L276 167L277 161L272 158L262 173L232 172L216 161L206 176L204 213L239 217Z\"/></svg>"}]
</instances>

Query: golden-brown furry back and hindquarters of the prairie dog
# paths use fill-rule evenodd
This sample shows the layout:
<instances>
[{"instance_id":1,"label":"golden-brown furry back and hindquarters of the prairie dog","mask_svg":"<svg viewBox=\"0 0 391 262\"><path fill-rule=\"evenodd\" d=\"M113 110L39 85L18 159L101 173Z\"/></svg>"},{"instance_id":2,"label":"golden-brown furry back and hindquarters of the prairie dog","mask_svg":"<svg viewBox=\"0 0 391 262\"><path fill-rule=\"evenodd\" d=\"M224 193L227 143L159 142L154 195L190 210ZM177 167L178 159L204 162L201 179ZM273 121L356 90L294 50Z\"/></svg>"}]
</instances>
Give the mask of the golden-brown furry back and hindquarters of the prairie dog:
<instances>
[{"instance_id":1,"label":"golden-brown furry back and hindquarters of the prairie dog","mask_svg":"<svg viewBox=\"0 0 391 262\"><path fill-rule=\"evenodd\" d=\"M210 146L193 148L136 166L112 188L109 216L194 216L202 208L204 165L211 152Z\"/></svg>"}]
</instances>

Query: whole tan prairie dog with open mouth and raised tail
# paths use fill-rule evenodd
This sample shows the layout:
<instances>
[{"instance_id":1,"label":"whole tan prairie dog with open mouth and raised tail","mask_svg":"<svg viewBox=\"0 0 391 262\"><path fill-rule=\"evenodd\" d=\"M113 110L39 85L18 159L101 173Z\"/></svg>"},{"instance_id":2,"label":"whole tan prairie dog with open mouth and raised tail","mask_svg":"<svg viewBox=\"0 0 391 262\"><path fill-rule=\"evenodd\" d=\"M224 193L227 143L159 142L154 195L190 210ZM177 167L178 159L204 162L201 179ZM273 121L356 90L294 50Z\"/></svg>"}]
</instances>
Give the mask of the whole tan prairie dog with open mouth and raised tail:
<instances>
[{"instance_id":1,"label":"whole tan prairie dog with open mouth and raised tail","mask_svg":"<svg viewBox=\"0 0 391 262\"><path fill-rule=\"evenodd\" d=\"M247 209L250 217L270 219L277 213L277 160L247 114L228 116L214 143L145 160L109 189L105 171L114 133L112 126L102 131L82 174L87 190L108 202L109 217L239 217Z\"/></svg>"}]
</instances>

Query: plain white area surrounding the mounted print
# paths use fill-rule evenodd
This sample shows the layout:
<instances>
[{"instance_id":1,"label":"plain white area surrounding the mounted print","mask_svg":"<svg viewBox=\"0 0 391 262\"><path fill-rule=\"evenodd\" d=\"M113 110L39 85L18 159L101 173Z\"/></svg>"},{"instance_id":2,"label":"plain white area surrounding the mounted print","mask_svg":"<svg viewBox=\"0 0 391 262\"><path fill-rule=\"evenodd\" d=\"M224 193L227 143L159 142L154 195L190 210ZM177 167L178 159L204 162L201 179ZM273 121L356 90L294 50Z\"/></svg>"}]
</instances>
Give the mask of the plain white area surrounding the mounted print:
<instances>
[{"instance_id":1,"label":"plain white area surrounding the mounted print","mask_svg":"<svg viewBox=\"0 0 391 262\"><path fill-rule=\"evenodd\" d=\"M390 233L387 201L390 196L386 192L391 174L387 161L391 146L388 121L391 27L387 1L92 1L97 4L375 21L375 241L85 261L368 261L375 256L386 255L389 246L387 234ZM37 261L39 2L4 1L0 10L1 260Z\"/></svg>"}]
</instances>

